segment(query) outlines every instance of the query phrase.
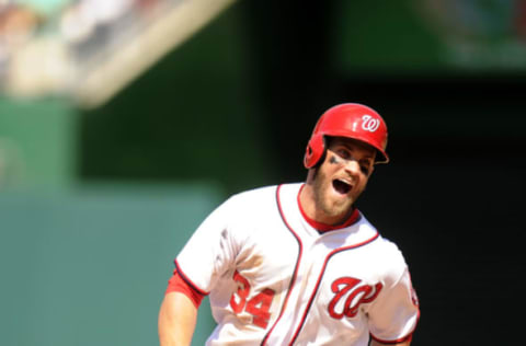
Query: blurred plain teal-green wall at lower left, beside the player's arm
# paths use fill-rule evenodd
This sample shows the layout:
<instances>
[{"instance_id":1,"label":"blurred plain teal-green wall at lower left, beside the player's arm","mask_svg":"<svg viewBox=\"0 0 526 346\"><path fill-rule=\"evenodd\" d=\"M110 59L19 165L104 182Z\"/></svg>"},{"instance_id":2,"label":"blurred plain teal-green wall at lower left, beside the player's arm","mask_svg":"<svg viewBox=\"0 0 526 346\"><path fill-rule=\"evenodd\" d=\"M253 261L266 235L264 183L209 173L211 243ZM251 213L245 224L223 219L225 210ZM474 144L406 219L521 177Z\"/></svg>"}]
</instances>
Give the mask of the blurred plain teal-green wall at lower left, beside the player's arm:
<instances>
[{"instance_id":1,"label":"blurred plain teal-green wall at lower left, beside the player's arm","mask_svg":"<svg viewBox=\"0 0 526 346\"><path fill-rule=\"evenodd\" d=\"M1 193L0 343L155 345L174 254L220 197L204 184ZM205 308L194 345L213 326Z\"/></svg>"}]
</instances>

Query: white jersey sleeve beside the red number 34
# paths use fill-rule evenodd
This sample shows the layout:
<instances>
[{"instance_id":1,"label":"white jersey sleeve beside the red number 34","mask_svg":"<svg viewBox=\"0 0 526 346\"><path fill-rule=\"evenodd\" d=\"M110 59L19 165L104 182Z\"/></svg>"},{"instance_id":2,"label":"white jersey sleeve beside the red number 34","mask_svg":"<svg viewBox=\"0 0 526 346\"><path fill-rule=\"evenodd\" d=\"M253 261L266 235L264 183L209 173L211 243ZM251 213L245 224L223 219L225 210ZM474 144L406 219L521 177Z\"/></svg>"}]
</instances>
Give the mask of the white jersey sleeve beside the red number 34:
<instances>
[{"instance_id":1,"label":"white jersey sleeve beside the red number 34","mask_svg":"<svg viewBox=\"0 0 526 346\"><path fill-rule=\"evenodd\" d=\"M208 295L235 263L236 237L229 224L232 208L229 199L214 210L175 258L179 274L203 295Z\"/></svg>"}]
</instances>

